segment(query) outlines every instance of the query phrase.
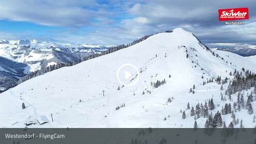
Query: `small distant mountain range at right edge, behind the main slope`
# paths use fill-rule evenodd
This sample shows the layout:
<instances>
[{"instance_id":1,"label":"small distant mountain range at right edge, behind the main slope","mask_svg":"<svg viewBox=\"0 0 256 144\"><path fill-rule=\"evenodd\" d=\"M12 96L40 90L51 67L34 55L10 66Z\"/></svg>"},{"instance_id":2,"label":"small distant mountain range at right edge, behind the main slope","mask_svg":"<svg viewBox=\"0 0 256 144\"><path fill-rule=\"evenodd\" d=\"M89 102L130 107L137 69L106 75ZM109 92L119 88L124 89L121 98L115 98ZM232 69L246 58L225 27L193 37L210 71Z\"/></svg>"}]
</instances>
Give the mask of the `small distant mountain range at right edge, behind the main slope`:
<instances>
[{"instance_id":1,"label":"small distant mountain range at right edge, behind the main slope","mask_svg":"<svg viewBox=\"0 0 256 144\"><path fill-rule=\"evenodd\" d=\"M256 45L246 43L210 43L207 44L213 49L232 52L241 56L256 55Z\"/></svg>"}]
</instances>

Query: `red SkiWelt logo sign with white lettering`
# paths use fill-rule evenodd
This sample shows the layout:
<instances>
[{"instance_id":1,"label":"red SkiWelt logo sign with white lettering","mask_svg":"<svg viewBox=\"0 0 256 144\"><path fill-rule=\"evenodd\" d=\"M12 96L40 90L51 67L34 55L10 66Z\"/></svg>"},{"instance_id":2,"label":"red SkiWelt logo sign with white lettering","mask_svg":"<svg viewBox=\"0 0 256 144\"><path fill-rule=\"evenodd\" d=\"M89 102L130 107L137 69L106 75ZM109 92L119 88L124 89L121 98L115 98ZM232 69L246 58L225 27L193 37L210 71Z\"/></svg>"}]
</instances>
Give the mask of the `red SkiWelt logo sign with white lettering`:
<instances>
[{"instance_id":1,"label":"red SkiWelt logo sign with white lettering","mask_svg":"<svg viewBox=\"0 0 256 144\"><path fill-rule=\"evenodd\" d=\"M219 21L249 19L248 8L219 9Z\"/></svg>"}]
</instances>

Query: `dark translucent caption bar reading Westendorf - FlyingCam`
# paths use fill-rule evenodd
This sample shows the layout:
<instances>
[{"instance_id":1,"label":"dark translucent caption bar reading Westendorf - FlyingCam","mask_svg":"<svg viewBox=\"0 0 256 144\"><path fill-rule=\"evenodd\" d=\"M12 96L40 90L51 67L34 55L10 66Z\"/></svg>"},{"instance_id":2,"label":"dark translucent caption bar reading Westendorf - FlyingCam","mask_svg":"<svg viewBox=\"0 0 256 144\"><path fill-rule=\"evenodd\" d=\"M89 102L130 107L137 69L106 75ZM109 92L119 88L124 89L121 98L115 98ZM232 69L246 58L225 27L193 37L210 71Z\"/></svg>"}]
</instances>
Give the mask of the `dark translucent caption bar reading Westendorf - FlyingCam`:
<instances>
[{"instance_id":1,"label":"dark translucent caption bar reading Westendorf - FlyingCam","mask_svg":"<svg viewBox=\"0 0 256 144\"><path fill-rule=\"evenodd\" d=\"M0 129L0 143L255 143L256 129Z\"/></svg>"}]
</instances>

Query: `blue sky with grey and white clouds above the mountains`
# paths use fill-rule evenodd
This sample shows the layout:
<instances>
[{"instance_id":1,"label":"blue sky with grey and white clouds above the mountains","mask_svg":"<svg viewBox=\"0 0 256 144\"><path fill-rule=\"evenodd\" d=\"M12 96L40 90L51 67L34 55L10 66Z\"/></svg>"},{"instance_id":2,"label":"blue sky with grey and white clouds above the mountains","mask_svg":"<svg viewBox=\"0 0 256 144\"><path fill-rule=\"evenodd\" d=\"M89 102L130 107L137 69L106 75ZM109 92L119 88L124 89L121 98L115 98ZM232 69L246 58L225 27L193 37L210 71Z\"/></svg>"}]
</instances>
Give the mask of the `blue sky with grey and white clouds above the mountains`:
<instances>
[{"instance_id":1,"label":"blue sky with grey and white clouds above the mountains","mask_svg":"<svg viewBox=\"0 0 256 144\"><path fill-rule=\"evenodd\" d=\"M218 9L249 8L245 25L218 21ZM123 44L183 27L204 43L256 43L255 0L0 0L0 39Z\"/></svg>"}]
</instances>

